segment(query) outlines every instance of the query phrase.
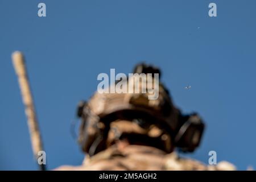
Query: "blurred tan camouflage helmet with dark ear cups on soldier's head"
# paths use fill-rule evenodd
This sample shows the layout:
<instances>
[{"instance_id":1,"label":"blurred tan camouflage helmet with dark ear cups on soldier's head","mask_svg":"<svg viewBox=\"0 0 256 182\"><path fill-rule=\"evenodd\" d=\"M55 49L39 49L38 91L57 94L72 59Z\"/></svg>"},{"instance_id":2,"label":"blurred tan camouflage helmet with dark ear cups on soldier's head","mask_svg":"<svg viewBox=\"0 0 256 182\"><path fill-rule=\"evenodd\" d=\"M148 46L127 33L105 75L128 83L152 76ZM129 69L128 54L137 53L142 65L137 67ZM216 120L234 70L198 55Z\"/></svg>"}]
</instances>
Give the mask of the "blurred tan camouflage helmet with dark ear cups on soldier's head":
<instances>
[{"instance_id":1,"label":"blurred tan camouflage helmet with dark ear cups on soldier's head","mask_svg":"<svg viewBox=\"0 0 256 182\"><path fill-rule=\"evenodd\" d=\"M147 84L143 84L142 74L146 75ZM159 82L159 77L158 68L139 64L134 75L123 82L133 91L138 88L139 92L108 93L98 90L88 102L80 102L77 115L82 122L78 140L82 150L94 155L122 138L166 152L172 152L174 147L182 151L195 150L200 144L204 123L196 113L180 113L172 104L168 90ZM105 89L117 84L115 82ZM152 93L143 90L150 89L148 87L153 84L158 97L150 100ZM129 128L132 130L128 132Z\"/></svg>"}]
</instances>

